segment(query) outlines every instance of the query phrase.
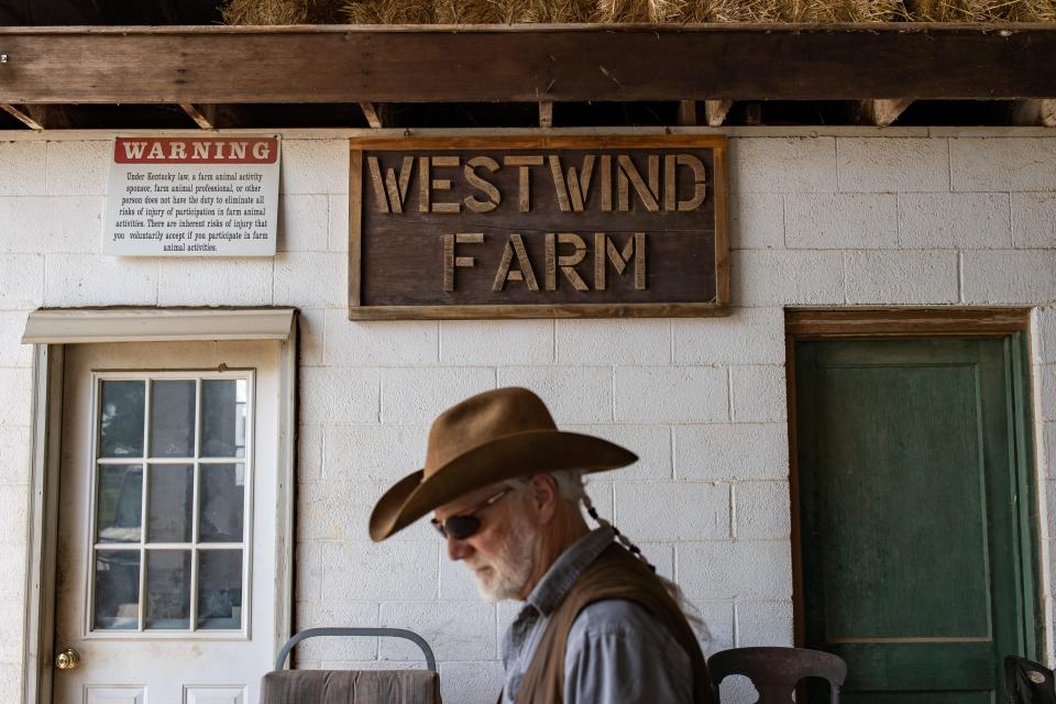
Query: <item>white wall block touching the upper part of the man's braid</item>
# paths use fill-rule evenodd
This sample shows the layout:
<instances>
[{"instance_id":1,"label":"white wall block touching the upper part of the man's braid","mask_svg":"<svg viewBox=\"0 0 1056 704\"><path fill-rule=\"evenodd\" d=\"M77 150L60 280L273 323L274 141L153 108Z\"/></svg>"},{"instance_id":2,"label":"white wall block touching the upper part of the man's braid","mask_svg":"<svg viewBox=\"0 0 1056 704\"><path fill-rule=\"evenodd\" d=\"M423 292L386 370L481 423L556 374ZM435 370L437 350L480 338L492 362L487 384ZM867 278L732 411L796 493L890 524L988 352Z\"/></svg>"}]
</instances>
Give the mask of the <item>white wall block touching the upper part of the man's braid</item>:
<instances>
[{"instance_id":1,"label":"white wall block touching the upper part of the man's braid","mask_svg":"<svg viewBox=\"0 0 1056 704\"><path fill-rule=\"evenodd\" d=\"M616 482L619 529L632 540L716 540L730 535L729 485Z\"/></svg>"}]
</instances>

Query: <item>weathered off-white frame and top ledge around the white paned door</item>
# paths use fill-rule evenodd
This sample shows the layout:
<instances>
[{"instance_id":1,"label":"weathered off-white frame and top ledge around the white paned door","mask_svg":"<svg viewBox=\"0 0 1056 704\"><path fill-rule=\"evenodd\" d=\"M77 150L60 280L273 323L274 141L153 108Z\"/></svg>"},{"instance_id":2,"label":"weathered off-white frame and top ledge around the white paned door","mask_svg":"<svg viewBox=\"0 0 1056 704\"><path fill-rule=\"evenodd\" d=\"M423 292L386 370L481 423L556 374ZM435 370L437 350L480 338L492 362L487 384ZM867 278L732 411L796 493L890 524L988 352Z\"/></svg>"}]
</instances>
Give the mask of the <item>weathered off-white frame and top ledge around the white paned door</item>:
<instances>
[{"instance_id":1,"label":"weathered off-white frame and top ledge around the white paned door","mask_svg":"<svg viewBox=\"0 0 1056 704\"><path fill-rule=\"evenodd\" d=\"M34 321L34 316L40 318ZM262 339L278 342L273 658L289 639L293 629L296 536L294 491L298 320L299 311L293 308L116 308L41 310L31 314L23 337L23 343L33 343L32 469L26 521L29 551L22 648L23 704L51 704L52 701L63 376L67 344ZM58 328L69 332L40 332L56 321L62 323ZM34 323L37 329L31 332Z\"/></svg>"}]
</instances>

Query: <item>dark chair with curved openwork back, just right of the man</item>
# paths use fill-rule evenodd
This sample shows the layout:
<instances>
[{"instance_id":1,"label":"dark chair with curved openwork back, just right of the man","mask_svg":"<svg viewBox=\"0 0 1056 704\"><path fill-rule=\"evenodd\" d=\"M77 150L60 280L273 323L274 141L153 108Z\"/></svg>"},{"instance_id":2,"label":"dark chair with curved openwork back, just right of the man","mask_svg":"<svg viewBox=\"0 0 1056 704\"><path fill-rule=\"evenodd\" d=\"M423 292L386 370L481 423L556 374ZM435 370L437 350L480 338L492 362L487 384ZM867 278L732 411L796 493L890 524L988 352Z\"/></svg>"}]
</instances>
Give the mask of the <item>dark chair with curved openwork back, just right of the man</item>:
<instances>
[{"instance_id":1,"label":"dark chair with curved openwork back, just right of the man","mask_svg":"<svg viewBox=\"0 0 1056 704\"><path fill-rule=\"evenodd\" d=\"M732 674L751 680L759 692L757 704L791 704L795 685L803 678L828 681L832 704L839 704L839 688L847 679L847 663L821 650L805 648L733 648L707 659L715 688Z\"/></svg>"}]
</instances>

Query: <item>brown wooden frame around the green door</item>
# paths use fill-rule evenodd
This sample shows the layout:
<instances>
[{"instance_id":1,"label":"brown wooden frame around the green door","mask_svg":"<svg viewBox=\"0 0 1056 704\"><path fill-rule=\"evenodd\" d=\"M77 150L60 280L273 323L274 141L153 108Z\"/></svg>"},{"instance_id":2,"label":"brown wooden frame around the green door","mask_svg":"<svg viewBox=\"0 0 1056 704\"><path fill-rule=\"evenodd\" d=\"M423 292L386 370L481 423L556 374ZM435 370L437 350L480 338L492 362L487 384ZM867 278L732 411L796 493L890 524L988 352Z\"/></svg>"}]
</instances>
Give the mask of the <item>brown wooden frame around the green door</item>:
<instances>
[{"instance_id":1,"label":"brown wooden frame around the green door","mask_svg":"<svg viewBox=\"0 0 1056 704\"><path fill-rule=\"evenodd\" d=\"M796 426L795 345L799 341L892 340L913 338L1010 339L1012 411L1015 453L1015 530L1020 551L1018 597L1026 657L1041 660L1045 651L1042 594L1040 475L1034 458L1035 420L1031 378L1030 308L787 308L785 370L789 417L789 490L792 520L792 613L796 647L805 644L803 556L800 532L800 475Z\"/></svg>"}]
</instances>

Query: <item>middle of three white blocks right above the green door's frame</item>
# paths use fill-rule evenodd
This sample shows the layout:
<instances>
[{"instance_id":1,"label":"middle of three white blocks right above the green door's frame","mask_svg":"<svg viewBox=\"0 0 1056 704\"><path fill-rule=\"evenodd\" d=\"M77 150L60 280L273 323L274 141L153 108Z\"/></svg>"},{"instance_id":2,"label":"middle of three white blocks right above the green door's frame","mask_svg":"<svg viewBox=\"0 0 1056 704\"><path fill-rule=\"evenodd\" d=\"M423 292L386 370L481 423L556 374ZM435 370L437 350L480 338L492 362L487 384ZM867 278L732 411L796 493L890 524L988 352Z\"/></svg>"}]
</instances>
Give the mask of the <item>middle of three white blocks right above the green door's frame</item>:
<instances>
[{"instance_id":1,"label":"middle of three white blocks right above the green door's frame","mask_svg":"<svg viewBox=\"0 0 1056 704\"><path fill-rule=\"evenodd\" d=\"M848 304L955 304L957 252L847 252Z\"/></svg>"}]
</instances>

